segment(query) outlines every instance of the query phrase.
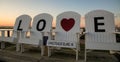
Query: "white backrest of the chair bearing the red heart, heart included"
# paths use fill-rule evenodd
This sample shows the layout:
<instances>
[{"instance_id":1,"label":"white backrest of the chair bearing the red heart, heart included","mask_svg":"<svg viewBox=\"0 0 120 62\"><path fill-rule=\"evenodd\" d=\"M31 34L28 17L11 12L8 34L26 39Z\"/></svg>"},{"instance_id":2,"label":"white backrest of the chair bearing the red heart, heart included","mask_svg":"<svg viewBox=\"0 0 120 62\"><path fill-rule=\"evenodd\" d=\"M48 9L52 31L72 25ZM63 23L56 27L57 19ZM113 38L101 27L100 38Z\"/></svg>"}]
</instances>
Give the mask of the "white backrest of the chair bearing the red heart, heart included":
<instances>
[{"instance_id":1,"label":"white backrest of the chair bearing the red heart, heart included","mask_svg":"<svg viewBox=\"0 0 120 62\"><path fill-rule=\"evenodd\" d=\"M63 12L56 20L56 40L65 42L77 41L76 33L80 32L80 14L72 11Z\"/></svg>"}]
</instances>

